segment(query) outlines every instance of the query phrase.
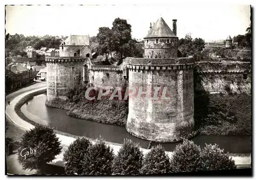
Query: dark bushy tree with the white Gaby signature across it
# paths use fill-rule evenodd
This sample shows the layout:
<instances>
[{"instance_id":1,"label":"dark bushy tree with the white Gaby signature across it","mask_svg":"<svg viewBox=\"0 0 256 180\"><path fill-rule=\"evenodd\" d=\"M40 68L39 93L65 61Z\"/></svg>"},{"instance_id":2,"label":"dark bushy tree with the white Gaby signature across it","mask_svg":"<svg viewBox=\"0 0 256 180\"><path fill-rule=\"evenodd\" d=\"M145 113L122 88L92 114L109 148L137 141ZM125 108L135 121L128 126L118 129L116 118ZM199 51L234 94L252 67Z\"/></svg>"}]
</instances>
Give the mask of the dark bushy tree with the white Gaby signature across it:
<instances>
[{"instance_id":1,"label":"dark bushy tree with the white Gaby signature across it","mask_svg":"<svg viewBox=\"0 0 256 180\"><path fill-rule=\"evenodd\" d=\"M18 149L18 161L23 169L41 169L60 154L62 147L53 129L45 125L37 125L26 131Z\"/></svg>"}]
</instances>

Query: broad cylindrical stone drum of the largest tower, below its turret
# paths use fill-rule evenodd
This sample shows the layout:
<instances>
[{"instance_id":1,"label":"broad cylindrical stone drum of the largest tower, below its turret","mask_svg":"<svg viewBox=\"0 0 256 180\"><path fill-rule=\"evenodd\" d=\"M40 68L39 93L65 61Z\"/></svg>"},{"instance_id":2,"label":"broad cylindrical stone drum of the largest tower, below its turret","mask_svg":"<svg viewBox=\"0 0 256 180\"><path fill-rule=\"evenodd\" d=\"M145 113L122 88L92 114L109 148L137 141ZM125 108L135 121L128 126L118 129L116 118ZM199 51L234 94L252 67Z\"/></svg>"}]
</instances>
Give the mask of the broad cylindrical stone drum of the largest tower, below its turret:
<instances>
[{"instance_id":1,"label":"broad cylindrical stone drum of the largest tower, below its turret","mask_svg":"<svg viewBox=\"0 0 256 180\"><path fill-rule=\"evenodd\" d=\"M178 141L193 131L194 84L191 58L155 59L148 64L143 58L128 58L129 87L143 91L167 87L169 100L129 97L126 129L136 137L156 142ZM161 91L161 90L160 90ZM154 93L153 93L154 94ZM184 130L185 129L185 130Z\"/></svg>"}]
</instances>

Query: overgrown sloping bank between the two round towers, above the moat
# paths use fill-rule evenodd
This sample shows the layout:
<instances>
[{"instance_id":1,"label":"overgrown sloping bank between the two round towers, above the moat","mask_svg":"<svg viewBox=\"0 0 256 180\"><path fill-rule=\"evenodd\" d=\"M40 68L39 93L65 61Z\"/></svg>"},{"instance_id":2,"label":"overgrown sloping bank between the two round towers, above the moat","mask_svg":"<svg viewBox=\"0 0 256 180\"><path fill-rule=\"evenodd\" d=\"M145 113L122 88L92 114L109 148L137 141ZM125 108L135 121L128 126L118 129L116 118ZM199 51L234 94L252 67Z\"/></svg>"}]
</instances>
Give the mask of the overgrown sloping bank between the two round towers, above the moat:
<instances>
[{"instance_id":1,"label":"overgrown sloping bank between the two round towers, above the moat","mask_svg":"<svg viewBox=\"0 0 256 180\"><path fill-rule=\"evenodd\" d=\"M85 98L84 98L85 99ZM103 124L125 127L128 116L128 102L108 99L94 102L53 99L46 101L46 106L68 110L67 115Z\"/></svg>"}]
</instances>

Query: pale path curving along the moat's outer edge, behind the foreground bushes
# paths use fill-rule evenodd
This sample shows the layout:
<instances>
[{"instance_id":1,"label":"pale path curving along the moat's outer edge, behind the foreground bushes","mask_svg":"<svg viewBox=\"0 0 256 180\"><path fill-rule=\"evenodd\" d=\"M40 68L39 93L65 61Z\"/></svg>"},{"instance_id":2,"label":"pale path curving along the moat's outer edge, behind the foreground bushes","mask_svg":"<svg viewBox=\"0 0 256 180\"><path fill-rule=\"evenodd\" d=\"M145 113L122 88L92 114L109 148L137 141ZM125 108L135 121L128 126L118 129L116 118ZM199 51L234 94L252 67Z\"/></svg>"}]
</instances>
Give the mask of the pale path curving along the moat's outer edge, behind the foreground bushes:
<instances>
[{"instance_id":1,"label":"pale path curving along the moat's outer edge, behind the foreground bushes","mask_svg":"<svg viewBox=\"0 0 256 180\"><path fill-rule=\"evenodd\" d=\"M29 130L30 128L33 128L34 126L26 121L24 121L22 118L20 118L14 111L14 107L15 105L20 101L22 100L22 98L24 97L27 97L29 98L29 96L27 95L30 95L30 94L33 94L33 93L36 93L37 91L42 91L44 88L39 88L35 91L31 91L31 92L28 92L28 93L24 93L22 95L19 95L18 97L16 97L11 105L7 106L7 109L6 109L6 114L7 116L16 124L18 125L19 127L22 127L24 129L27 129ZM57 137L59 138L59 140L61 141L61 144L62 146L69 146L70 143L72 143L75 138L77 138L78 136L72 136L72 134L67 134L67 133L63 133L63 132L59 132L59 131L56 131L55 132L57 133ZM64 135L64 136L63 136ZM70 136L70 137L69 137ZM92 143L95 143L95 140L91 140ZM113 150L114 150L114 153L117 154L118 150L120 149L120 144L114 144L114 143L111 143L111 142L106 142L106 144L110 145ZM143 153L147 153L148 152L148 149L144 149L144 148L141 148L142 152ZM167 151L166 152L169 156L172 156L172 152L170 151ZM62 153L60 155L58 155L58 157L56 157L57 159L53 162L53 163L56 163L56 162L59 162L59 164L61 164L60 162L62 162ZM250 161L251 161L251 158L250 156L246 156L246 157L241 157L241 156L231 156L232 159L235 160L236 162L236 165L247 165L249 166L250 165Z\"/></svg>"}]
</instances>

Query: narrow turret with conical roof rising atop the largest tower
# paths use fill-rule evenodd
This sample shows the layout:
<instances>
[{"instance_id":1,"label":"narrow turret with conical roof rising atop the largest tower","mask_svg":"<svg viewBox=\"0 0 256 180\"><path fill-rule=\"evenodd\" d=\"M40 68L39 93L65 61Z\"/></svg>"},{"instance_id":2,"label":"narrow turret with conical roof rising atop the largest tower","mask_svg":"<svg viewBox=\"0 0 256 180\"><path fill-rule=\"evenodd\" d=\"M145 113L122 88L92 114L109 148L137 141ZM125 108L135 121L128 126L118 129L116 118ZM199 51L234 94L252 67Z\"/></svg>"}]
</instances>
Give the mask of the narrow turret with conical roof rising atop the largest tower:
<instances>
[{"instance_id":1,"label":"narrow turret with conical roof rising atop the largest tower","mask_svg":"<svg viewBox=\"0 0 256 180\"><path fill-rule=\"evenodd\" d=\"M145 39L145 58L171 58L178 55L178 37L160 17Z\"/></svg>"}]
</instances>

